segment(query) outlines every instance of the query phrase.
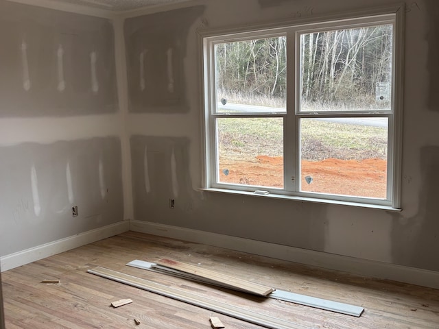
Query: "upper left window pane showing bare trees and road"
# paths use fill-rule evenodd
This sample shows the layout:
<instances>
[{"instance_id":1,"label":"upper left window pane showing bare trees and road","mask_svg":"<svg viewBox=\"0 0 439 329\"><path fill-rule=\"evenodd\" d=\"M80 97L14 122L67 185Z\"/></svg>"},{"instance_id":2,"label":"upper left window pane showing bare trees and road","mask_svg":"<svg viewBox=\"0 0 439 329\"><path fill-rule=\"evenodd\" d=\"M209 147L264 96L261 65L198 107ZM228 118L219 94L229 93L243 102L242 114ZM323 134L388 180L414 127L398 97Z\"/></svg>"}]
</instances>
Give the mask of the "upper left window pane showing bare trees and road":
<instances>
[{"instance_id":1,"label":"upper left window pane showing bare trees and road","mask_svg":"<svg viewBox=\"0 0 439 329\"><path fill-rule=\"evenodd\" d=\"M215 45L217 112L285 112L286 38Z\"/></svg>"}]
</instances>

